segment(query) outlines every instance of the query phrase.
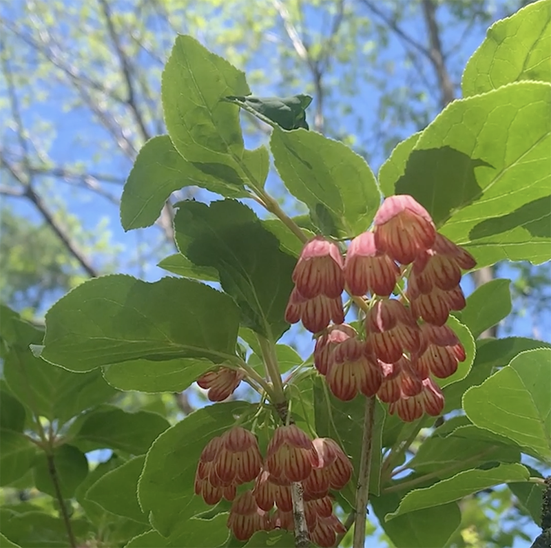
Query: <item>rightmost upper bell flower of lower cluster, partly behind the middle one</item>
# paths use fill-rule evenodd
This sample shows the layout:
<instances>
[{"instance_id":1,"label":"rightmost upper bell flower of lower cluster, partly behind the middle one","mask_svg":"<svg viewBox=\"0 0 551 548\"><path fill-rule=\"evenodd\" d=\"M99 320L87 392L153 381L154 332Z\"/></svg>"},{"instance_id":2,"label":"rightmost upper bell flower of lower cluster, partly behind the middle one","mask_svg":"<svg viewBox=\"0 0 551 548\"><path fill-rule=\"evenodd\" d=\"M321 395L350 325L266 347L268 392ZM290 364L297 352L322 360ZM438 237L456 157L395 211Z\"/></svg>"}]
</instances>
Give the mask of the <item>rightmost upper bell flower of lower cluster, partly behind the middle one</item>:
<instances>
[{"instance_id":1,"label":"rightmost upper bell flower of lower cluster, partly behind the middle one","mask_svg":"<svg viewBox=\"0 0 551 548\"><path fill-rule=\"evenodd\" d=\"M316 438L313 442L318 453L318 467L302 482L304 500L323 498L329 489L339 491L349 483L352 476L352 465L338 443L331 438Z\"/></svg>"}]
</instances>

